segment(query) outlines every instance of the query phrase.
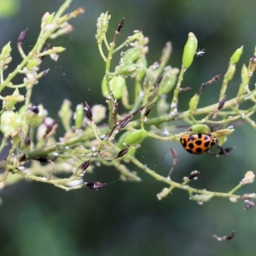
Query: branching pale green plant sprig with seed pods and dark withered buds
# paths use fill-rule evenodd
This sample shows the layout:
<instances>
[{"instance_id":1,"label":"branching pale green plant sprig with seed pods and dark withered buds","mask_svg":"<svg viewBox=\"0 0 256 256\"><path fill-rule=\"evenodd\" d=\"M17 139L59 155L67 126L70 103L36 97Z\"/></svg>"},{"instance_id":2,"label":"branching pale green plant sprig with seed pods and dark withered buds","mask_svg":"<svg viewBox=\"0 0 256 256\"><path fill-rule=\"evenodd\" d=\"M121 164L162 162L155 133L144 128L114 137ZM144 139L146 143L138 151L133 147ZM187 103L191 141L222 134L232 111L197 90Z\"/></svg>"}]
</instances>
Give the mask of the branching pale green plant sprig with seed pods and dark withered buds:
<instances>
[{"instance_id":1,"label":"branching pale green plant sprig with seed pods and dark withered buds","mask_svg":"<svg viewBox=\"0 0 256 256\"><path fill-rule=\"evenodd\" d=\"M197 123L219 125L219 129L212 134L219 137L221 143L224 143L225 137L234 131L228 127L230 121L243 119L256 129L255 122L251 119L256 111L256 89L250 89L248 85L256 65L256 52L253 53L249 64L241 68L241 84L236 97L226 99L225 95L228 84L236 72L236 63L241 58L243 47L237 49L230 58L218 101L198 108L203 91L207 90L207 86L213 86L210 85L213 81L220 79L217 75L202 84L201 89L190 99L188 109L180 112L178 108L180 94L189 90L189 88L183 88L183 79L197 54L198 43L195 34L189 33L180 70L167 65L172 53L170 42L164 47L160 60L148 66L148 38L143 35L143 32L134 31L125 42L118 45L119 33L124 32L125 23L122 19L112 35L112 41L108 42L108 22L111 17L108 12L102 14L96 23L96 44L102 56L102 65L105 65L105 73L102 74L102 96L106 98L108 116L105 106L90 107L87 103L88 99L85 99L87 102L84 100L84 104L79 104L74 113L71 110L71 102L64 100L59 116L65 133L61 140L58 140L55 138L57 129L55 120L47 116L42 105L32 105L31 96L34 85L48 73L48 70L39 72L44 57L50 56L56 60L65 50L61 46L45 45L47 40L71 32L73 28L67 21L83 13L83 9L76 9L70 14L63 15L70 3L71 0L66 0L56 14L44 15L38 40L29 53L22 49L22 43L29 31L26 29L20 33L18 49L22 61L6 78L3 70L11 61L10 43L3 47L0 54L0 92L6 86L14 89L12 95L0 96L3 101L0 119L3 141L0 151L3 151L8 143L11 144L6 159L0 161L1 169L5 170L0 177L1 183L11 185L21 178L26 178L49 183L65 190L81 189L84 186L100 189L106 183L83 183L85 174L96 171L98 165L113 166L122 180L141 181L137 172L132 172L127 167L126 164L130 162L138 170L146 172L155 180L168 186L157 195L159 200L169 195L174 189L183 189L194 201L204 202L212 197L224 197L230 198L230 201L249 201L251 206L256 197L255 194L234 194L244 184L253 182L254 174L251 171L247 172L241 183L229 192L195 189L189 184L199 175L199 172L191 172L189 177L184 177L183 181L178 183L171 179L171 171L166 177L160 175L158 170L152 170L137 160L136 153L139 153L138 148L147 137L160 141L179 142L179 138L188 131L175 133L176 120L189 125ZM120 50L123 51L120 52ZM113 55L119 55L119 63L113 63ZM12 80L20 74L25 76L24 83L12 84ZM126 85L127 78L134 81L132 89L131 85L129 88ZM20 94L20 88L26 88L26 96ZM129 97L131 92L134 94L133 99ZM166 95L170 93L172 100L167 102ZM24 102L18 110L15 109L17 102ZM241 108L243 102L251 102L252 105L243 109ZM120 103L127 111L120 111ZM156 107L156 113L148 119L148 114L154 107ZM108 118L108 124L104 123L106 118ZM170 121L173 121L173 125ZM34 134L37 135L37 139L34 139ZM175 155L176 165L177 154L172 155ZM24 164L27 162L31 162L31 166L25 168ZM49 164L40 166L39 162ZM172 166L172 171L175 165ZM58 177L61 172L68 173L69 177Z\"/></svg>"}]
</instances>

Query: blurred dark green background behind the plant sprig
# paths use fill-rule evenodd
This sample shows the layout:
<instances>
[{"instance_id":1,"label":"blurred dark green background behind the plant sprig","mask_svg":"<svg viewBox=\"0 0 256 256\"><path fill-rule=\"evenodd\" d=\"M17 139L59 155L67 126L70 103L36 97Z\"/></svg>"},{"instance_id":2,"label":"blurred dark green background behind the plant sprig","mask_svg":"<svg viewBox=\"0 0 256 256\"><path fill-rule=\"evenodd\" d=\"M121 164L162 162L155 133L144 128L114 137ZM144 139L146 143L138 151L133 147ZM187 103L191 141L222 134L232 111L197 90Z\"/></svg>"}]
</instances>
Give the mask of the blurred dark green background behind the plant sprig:
<instances>
[{"instance_id":1,"label":"blurred dark green background behind the plant sprig","mask_svg":"<svg viewBox=\"0 0 256 256\"><path fill-rule=\"evenodd\" d=\"M9 2L10 6L6 7ZM28 52L34 44L42 15L54 12L61 0L0 1L0 46L11 41L14 61L20 61L16 42L19 33L29 27L24 42ZM218 73L225 73L230 55L244 45L236 78L230 83L227 99L236 94L242 63L253 55L256 44L255 1L167 1L167 0L74 0L69 10L84 7L84 15L72 20L75 30L57 38L55 45L67 47L57 62L45 60L42 68L50 73L34 90L32 102L43 103L49 116L58 119L57 110L64 98L73 102L73 109L87 101L90 105L105 104L100 84L104 71L96 47L96 19L108 10L112 15L109 38L125 17L125 27L118 38L122 42L135 29L149 37L148 63L158 61L162 47L172 41L172 67L180 67L183 45L189 32L206 49L196 57L183 80L183 87L192 90L182 94L179 110L187 108L189 98L203 82ZM20 83L20 80L17 79ZM255 79L252 79L253 83ZM201 106L216 102L221 81L204 91ZM251 86L254 86L251 84ZM171 95L169 96L171 98ZM60 134L61 136L61 129ZM255 131L249 125L236 127L227 143L236 146L229 157L210 154L190 155L178 143L147 140L138 151L138 158L156 172L165 174L172 158L169 148L177 151L178 163L172 178L181 181L189 172L201 172L193 182L197 188L229 191L248 170L253 170ZM2 155L2 159L5 155ZM244 211L243 202L236 204L213 199L200 206L189 201L179 190L158 201L156 194L163 183L156 182L142 171L142 183L116 182L99 191L79 189L64 192L44 183L17 183L1 191L0 255L255 255L255 209ZM111 182L119 174L112 168L98 168L87 180ZM255 184L239 191L255 191ZM218 242L212 234L230 235L231 241Z\"/></svg>"}]
</instances>

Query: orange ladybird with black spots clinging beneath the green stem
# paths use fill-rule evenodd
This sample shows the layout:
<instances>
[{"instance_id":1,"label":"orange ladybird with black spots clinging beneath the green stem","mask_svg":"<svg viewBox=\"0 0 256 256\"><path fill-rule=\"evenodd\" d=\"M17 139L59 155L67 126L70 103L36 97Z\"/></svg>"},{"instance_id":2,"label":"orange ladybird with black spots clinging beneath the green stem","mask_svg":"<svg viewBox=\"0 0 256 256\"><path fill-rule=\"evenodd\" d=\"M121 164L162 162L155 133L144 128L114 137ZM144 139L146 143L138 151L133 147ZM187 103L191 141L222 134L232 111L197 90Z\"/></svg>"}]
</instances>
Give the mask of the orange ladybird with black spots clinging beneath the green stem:
<instances>
[{"instance_id":1,"label":"orange ladybird with black spots clinging beneath the green stem","mask_svg":"<svg viewBox=\"0 0 256 256\"><path fill-rule=\"evenodd\" d=\"M180 143L191 154L202 154L207 152L217 143L217 137L211 134L185 134L180 138Z\"/></svg>"}]
</instances>

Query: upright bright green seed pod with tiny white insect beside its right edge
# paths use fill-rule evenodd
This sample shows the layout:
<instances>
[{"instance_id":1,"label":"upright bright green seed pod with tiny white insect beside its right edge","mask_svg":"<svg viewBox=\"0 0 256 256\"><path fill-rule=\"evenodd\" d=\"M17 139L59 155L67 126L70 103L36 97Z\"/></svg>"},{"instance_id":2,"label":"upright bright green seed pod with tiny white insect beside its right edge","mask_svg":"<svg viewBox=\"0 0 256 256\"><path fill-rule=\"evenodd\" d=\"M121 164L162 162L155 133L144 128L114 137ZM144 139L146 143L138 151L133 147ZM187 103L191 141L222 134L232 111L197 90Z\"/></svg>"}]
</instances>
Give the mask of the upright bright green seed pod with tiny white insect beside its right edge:
<instances>
[{"instance_id":1,"label":"upright bright green seed pod with tiny white insect beside its right edge","mask_svg":"<svg viewBox=\"0 0 256 256\"><path fill-rule=\"evenodd\" d=\"M183 67L189 68L193 62L195 52L197 49L197 39L195 34L189 32L189 38L183 49Z\"/></svg>"}]
</instances>

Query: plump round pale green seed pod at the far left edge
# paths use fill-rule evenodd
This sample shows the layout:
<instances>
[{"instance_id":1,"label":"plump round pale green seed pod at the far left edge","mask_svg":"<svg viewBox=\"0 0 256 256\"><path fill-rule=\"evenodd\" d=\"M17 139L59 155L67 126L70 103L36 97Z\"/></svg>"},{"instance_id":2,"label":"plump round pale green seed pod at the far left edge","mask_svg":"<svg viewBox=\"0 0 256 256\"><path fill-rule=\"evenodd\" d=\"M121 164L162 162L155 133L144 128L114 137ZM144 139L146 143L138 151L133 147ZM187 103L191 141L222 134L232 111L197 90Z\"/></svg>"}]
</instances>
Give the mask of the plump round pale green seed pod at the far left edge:
<instances>
[{"instance_id":1,"label":"plump round pale green seed pod at the far left edge","mask_svg":"<svg viewBox=\"0 0 256 256\"><path fill-rule=\"evenodd\" d=\"M19 113L14 111L5 111L0 117L0 130L3 132L5 137L9 137L15 131L18 130L21 124L21 118Z\"/></svg>"}]
</instances>

